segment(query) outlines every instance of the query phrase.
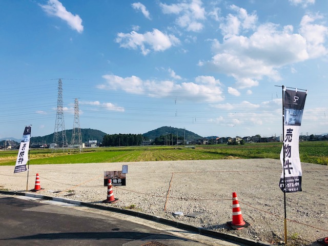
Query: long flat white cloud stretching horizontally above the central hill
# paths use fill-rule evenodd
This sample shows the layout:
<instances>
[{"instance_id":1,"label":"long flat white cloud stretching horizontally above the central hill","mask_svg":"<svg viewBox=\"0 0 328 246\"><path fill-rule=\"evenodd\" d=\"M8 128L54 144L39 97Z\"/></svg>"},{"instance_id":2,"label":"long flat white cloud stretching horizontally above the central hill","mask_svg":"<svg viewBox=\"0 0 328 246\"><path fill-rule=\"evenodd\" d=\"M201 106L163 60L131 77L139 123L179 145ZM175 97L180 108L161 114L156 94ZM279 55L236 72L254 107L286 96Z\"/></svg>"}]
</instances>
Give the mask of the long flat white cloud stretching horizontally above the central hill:
<instances>
[{"instance_id":1,"label":"long flat white cloud stretching horizontally above the central hill","mask_svg":"<svg viewBox=\"0 0 328 246\"><path fill-rule=\"evenodd\" d=\"M185 100L222 101L222 89L217 79L211 76L198 76L194 82L176 83L173 80L142 80L131 76L122 78L117 75L104 75L106 83L98 85L102 90L123 90L130 94L149 97L171 97L178 94Z\"/></svg>"}]
</instances>

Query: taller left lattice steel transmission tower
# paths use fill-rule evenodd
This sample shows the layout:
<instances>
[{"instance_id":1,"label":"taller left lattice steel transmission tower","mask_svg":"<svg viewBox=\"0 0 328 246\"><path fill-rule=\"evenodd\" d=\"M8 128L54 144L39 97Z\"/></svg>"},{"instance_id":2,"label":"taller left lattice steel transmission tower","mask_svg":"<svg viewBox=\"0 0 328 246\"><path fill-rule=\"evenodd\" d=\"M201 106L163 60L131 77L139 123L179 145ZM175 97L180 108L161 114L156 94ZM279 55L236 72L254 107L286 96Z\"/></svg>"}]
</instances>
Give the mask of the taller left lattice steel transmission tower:
<instances>
[{"instance_id":1,"label":"taller left lattice steel transmission tower","mask_svg":"<svg viewBox=\"0 0 328 246\"><path fill-rule=\"evenodd\" d=\"M58 80L58 99L57 99L57 115L55 123L55 131L53 134L53 142L56 147L67 148L67 137L65 131L64 122L64 110L63 110L63 86L61 79Z\"/></svg>"}]
</instances>

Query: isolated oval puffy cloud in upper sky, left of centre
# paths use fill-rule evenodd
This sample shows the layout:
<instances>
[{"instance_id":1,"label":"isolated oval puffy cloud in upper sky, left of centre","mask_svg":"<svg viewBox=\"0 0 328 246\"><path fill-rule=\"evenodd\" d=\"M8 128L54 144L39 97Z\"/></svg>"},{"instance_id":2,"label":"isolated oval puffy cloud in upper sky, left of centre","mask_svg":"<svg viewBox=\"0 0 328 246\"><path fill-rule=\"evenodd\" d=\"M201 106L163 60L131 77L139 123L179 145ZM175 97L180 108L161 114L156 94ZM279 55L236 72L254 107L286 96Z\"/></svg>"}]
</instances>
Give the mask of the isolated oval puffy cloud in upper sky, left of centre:
<instances>
[{"instance_id":1,"label":"isolated oval puffy cloud in upper sky, left of centre","mask_svg":"<svg viewBox=\"0 0 328 246\"><path fill-rule=\"evenodd\" d=\"M140 34L135 31L131 33L118 33L115 39L116 43L122 48L140 49L141 53L147 55L151 50L165 51L172 46L180 44L180 40L174 35L167 35L153 29L152 32Z\"/></svg>"}]
</instances>

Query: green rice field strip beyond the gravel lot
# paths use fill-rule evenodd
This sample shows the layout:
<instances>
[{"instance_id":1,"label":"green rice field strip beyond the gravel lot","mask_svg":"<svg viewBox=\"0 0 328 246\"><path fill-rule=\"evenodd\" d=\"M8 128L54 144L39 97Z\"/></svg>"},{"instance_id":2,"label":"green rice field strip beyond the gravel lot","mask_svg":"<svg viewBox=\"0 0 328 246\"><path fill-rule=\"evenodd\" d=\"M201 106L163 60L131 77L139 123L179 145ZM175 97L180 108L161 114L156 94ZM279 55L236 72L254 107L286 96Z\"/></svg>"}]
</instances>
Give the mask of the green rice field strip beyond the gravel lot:
<instances>
[{"instance_id":1,"label":"green rice field strip beyond the gravel lot","mask_svg":"<svg viewBox=\"0 0 328 246\"><path fill-rule=\"evenodd\" d=\"M63 163L100 163L160 160L210 160L210 159L279 159L282 143L252 143L237 146L196 145L103 147L76 149L31 149L30 165ZM0 151L0 166L14 166L18 150ZM306 141L299 144L302 162L328 165L328 141Z\"/></svg>"}]
</instances>

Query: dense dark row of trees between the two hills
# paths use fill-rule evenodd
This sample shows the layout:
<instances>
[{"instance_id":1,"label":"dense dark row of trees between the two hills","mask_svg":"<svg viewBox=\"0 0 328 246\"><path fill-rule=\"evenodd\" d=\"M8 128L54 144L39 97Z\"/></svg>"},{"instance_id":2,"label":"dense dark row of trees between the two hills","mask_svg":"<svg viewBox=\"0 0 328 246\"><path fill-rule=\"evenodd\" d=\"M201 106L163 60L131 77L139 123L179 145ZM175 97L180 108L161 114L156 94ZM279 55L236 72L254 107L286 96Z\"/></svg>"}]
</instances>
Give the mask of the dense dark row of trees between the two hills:
<instances>
[{"instance_id":1,"label":"dense dark row of trees between the two hills","mask_svg":"<svg viewBox=\"0 0 328 246\"><path fill-rule=\"evenodd\" d=\"M102 146L139 146L142 145L142 134L112 134L105 135Z\"/></svg>"}]
</instances>

